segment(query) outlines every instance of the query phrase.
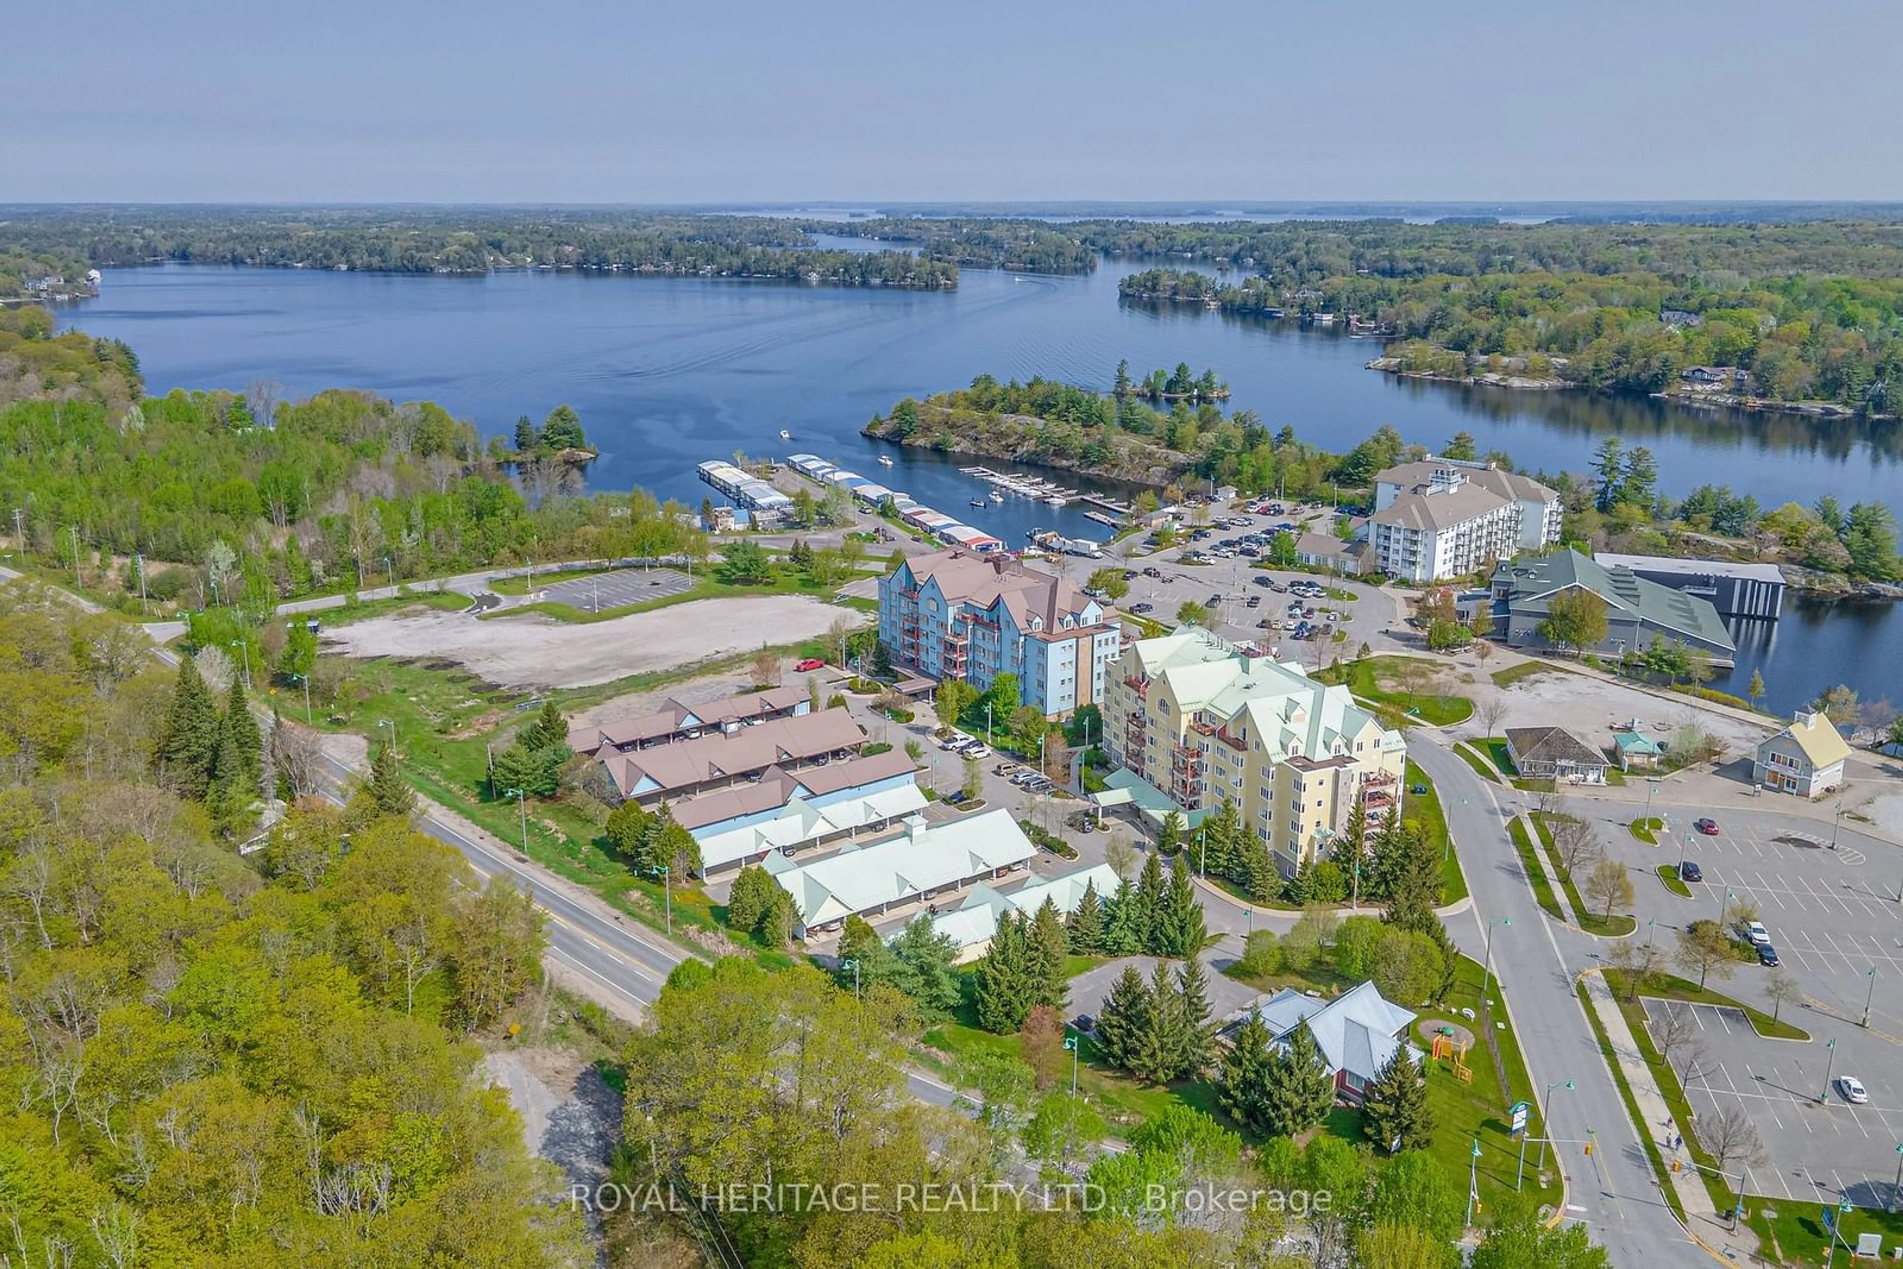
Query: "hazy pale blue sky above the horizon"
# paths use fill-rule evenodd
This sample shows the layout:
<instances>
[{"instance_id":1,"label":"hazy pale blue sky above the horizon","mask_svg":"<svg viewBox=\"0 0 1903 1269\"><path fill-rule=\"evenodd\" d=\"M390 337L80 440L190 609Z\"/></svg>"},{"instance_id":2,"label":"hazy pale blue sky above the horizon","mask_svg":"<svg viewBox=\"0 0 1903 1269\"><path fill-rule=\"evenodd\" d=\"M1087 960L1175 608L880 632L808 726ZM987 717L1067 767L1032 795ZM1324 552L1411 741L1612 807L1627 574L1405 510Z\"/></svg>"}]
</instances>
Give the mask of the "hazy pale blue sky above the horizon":
<instances>
[{"instance_id":1,"label":"hazy pale blue sky above the horizon","mask_svg":"<svg viewBox=\"0 0 1903 1269\"><path fill-rule=\"evenodd\" d=\"M1897 0L42 0L0 202L1903 198Z\"/></svg>"}]
</instances>

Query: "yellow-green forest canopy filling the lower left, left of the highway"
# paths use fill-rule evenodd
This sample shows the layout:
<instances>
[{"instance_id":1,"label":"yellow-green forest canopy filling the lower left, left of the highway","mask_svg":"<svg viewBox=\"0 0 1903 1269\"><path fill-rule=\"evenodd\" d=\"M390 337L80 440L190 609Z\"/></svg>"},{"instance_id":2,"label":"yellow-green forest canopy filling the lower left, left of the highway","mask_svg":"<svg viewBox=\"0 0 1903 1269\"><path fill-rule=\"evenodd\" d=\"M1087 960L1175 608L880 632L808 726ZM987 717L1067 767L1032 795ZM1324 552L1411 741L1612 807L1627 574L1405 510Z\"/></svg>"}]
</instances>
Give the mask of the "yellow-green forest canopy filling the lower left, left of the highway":
<instances>
[{"instance_id":1,"label":"yellow-green forest canopy filling the lower left, left of the highway","mask_svg":"<svg viewBox=\"0 0 1903 1269\"><path fill-rule=\"evenodd\" d=\"M586 1263L468 1043L533 906L369 799L242 860L156 784L175 700L129 624L0 588L0 1258Z\"/></svg>"}]
</instances>

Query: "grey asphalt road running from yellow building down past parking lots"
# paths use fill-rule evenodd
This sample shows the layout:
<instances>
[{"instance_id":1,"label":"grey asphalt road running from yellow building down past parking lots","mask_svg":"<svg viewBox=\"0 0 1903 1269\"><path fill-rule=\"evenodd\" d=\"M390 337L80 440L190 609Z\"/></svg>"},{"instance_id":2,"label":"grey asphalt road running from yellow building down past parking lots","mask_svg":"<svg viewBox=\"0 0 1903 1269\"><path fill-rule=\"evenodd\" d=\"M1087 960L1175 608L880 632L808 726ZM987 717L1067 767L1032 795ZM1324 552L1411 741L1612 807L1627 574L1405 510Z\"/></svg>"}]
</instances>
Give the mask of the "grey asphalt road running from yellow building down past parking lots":
<instances>
[{"instance_id":1,"label":"grey asphalt road running from yellow building down past parking lots","mask_svg":"<svg viewBox=\"0 0 1903 1269\"><path fill-rule=\"evenodd\" d=\"M1599 940L1547 923L1507 837L1507 818L1520 809L1520 795L1482 782L1431 742L1410 744L1408 755L1441 793L1473 894L1473 909L1456 917L1450 932L1465 951L1484 955L1492 928L1494 978L1513 1012L1534 1088L1574 1083L1570 1092L1557 1088L1551 1096L1549 1134L1555 1142L1583 1142L1591 1130L1599 1142L1591 1157L1578 1143L1555 1145L1566 1174L1566 1216L1587 1223L1614 1265L1709 1265L1659 1197L1637 1128L1574 995L1574 976L1599 963ZM1501 919L1511 925L1498 925ZM1656 1128L1663 1138L1663 1124Z\"/></svg>"}]
</instances>

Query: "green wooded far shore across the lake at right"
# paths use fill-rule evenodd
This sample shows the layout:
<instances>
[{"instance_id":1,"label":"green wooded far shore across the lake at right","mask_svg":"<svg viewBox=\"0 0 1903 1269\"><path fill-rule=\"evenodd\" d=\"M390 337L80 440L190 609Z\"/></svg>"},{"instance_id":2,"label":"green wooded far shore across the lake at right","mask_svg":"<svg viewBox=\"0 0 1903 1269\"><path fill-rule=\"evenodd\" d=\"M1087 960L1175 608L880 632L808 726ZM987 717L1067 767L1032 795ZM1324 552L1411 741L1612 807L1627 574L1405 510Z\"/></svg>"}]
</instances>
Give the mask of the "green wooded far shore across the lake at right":
<instances>
[{"instance_id":1,"label":"green wooded far shore across the lake at right","mask_svg":"<svg viewBox=\"0 0 1903 1269\"><path fill-rule=\"evenodd\" d=\"M1121 293L1227 312L1334 312L1467 356L1559 358L1606 392L1661 392L1694 365L1745 394L1867 413L1903 401L1899 225L1123 225L1130 255L1250 270L1132 274Z\"/></svg>"}]
</instances>

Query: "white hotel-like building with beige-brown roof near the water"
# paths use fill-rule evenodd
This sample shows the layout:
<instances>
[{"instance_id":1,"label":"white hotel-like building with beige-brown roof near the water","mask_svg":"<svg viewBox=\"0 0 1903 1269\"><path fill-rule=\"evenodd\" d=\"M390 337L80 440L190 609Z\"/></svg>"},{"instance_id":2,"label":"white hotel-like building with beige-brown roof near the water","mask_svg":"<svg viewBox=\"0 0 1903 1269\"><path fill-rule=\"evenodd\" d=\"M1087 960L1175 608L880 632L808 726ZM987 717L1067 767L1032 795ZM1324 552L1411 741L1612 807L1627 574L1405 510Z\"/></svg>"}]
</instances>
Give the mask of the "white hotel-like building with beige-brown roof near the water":
<instances>
[{"instance_id":1,"label":"white hotel-like building with beige-brown roof near the water","mask_svg":"<svg viewBox=\"0 0 1903 1269\"><path fill-rule=\"evenodd\" d=\"M1559 495L1486 462L1427 459L1374 478L1374 567L1439 582L1559 542Z\"/></svg>"}]
</instances>

